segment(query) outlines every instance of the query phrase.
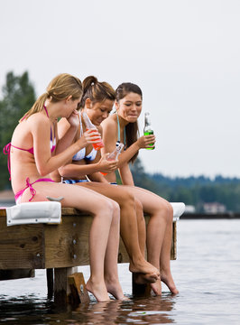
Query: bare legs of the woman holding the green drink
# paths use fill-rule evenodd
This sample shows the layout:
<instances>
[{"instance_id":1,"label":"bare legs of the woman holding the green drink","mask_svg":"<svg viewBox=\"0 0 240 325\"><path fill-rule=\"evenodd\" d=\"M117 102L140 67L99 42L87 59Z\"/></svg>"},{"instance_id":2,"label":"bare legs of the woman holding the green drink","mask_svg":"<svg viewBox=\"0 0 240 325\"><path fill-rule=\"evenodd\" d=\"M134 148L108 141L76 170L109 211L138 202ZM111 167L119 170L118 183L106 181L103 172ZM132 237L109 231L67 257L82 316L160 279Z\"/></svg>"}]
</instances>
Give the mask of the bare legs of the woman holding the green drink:
<instances>
[{"instance_id":1,"label":"bare legs of the woman holding the green drink","mask_svg":"<svg viewBox=\"0 0 240 325\"><path fill-rule=\"evenodd\" d=\"M147 227L148 261L161 271L162 282L166 283L172 293L178 290L171 276L171 231L172 208L171 204L149 190L138 187L125 186L132 189L134 196L143 204L144 212L150 215ZM151 284L152 291L162 294L161 281Z\"/></svg>"}]
</instances>

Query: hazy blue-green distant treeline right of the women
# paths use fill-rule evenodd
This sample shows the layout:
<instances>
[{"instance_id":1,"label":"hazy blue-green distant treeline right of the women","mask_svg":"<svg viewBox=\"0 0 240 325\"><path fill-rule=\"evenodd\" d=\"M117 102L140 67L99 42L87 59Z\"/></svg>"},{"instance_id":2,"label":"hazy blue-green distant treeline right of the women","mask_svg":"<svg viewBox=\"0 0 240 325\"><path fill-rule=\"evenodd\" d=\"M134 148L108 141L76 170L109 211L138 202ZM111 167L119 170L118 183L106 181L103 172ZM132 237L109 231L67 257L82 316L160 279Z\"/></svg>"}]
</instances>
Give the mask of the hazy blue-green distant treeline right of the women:
<instances>
[{"instance_id":1,"label":"hazy blue-green distant treeline right of the women","mask_svg":"<svg viewBox=\"0 0 240 325\"><path fill-rule=\"evenodd\" d=\"M240 211L240 179L220 175L214 179L206 176L167 177L161 173L144 172L140 160L131 167L135 185L152 190L171 202L184 202L193 205L197 212L203 212L203 204L219 202L227 211Z\"/></svg>"}]
</instances>

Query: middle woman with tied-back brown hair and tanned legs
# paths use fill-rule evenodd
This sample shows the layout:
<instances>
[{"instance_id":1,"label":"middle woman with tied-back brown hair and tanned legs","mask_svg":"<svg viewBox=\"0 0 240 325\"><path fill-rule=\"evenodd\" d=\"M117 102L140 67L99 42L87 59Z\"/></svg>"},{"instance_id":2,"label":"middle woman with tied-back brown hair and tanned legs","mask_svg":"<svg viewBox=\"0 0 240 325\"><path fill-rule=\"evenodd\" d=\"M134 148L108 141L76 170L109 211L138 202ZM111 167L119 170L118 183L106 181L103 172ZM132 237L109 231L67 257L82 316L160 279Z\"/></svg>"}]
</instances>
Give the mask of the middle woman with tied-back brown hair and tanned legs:
<instances>
[{"instance_id":1,"label":"middle woman with tied-back brown hair and tanned legs","mask_svg":"<svg viewBox=\"0 0 240 325\"><path fill-rule=\"evenodd\" d=\"M83 81L83 97L78 115L79 127L74 141L78 141L78 138L86 130L83 114L87 114L89 121L96 125L98 132L101 134L102 127L100 124L112 110L114 100L115 90L108 83L99 82L94 76L89 76ZM65 118L61 119L59 122L60 138L68 130L68 121ZM131 190L113 186L106 181L100 172L114 172L117 164L116 161L107 161L106 158L107 154L101 158L100 151L97 151L89 144L86 148L73 155L68 163L60 167L60 176L65 183L75 184L75 187L95 190L119 204L120 230L130 257L129 269L134 274L138 274L137 281L154 283L159 278L159 271L144 259L139 246L139 237L144 237L144 228L139 228L140 224L144 224L142 204L134 199ZM143 234L140 229L143 230ZM108 292L117 297L113 290Z\"/></svg>"}]
</instances>

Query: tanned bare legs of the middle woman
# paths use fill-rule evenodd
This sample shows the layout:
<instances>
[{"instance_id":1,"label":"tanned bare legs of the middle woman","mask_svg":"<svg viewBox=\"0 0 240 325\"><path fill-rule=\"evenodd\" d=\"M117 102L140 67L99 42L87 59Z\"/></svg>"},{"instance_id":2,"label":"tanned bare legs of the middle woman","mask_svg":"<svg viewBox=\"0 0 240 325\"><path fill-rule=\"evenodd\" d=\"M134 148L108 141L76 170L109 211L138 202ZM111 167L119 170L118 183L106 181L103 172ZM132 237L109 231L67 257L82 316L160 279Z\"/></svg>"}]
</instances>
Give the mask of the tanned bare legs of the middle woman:
<instances>
[{"instance_id":1,"label":"tanned bare legs of the middle woman","mask_svg":"<svg viewBox=\"0 0 240 325\"><path fill-rule=\"evenodd\" d=\"M96 190L97 192L104 194L106 197L115 200L119 204L121 211L121 237L123 238L130 258L129 269L134 273L151 274L151 282L156 281L159 278L159 270L145 261L139 246L135 200L131 190L124 189L121 186L119 187L93 181L78 184L79 186Z\"/></svg>"}]
</instances>

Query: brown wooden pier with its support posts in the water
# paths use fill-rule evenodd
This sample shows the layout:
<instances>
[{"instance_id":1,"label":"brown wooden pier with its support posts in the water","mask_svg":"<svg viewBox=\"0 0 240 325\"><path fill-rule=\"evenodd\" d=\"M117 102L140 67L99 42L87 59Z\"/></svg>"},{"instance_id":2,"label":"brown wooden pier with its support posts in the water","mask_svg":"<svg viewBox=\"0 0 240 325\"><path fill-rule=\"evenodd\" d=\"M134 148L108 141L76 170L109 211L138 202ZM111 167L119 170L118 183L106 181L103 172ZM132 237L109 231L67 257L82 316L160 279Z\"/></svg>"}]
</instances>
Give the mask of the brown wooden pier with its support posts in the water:
<instances>
[{"instance_id":1,"label":"brown wooden pier with its support posts in the water","mask_svg":"<svg viewBox=\"0 0 240 325\"><path fill-rule=\"evenodd\" d=\"M146 223L149 217L145 216ZM0 280L34 276L46 269L48 297L58 305L88 301L82 274L74 267L89 265L88 234L92 217L77 209L62 208L61 223L26 224L7 227L6 210L0 209ZM173 221L171 259L176 259L176 221ZM128 263L120 240L118 263ZM134 283L133 283L134 284ZM141 291L141 290L140 290ZM139 287L133 285L133 293Z\"/></svg>"}]
</instances>

